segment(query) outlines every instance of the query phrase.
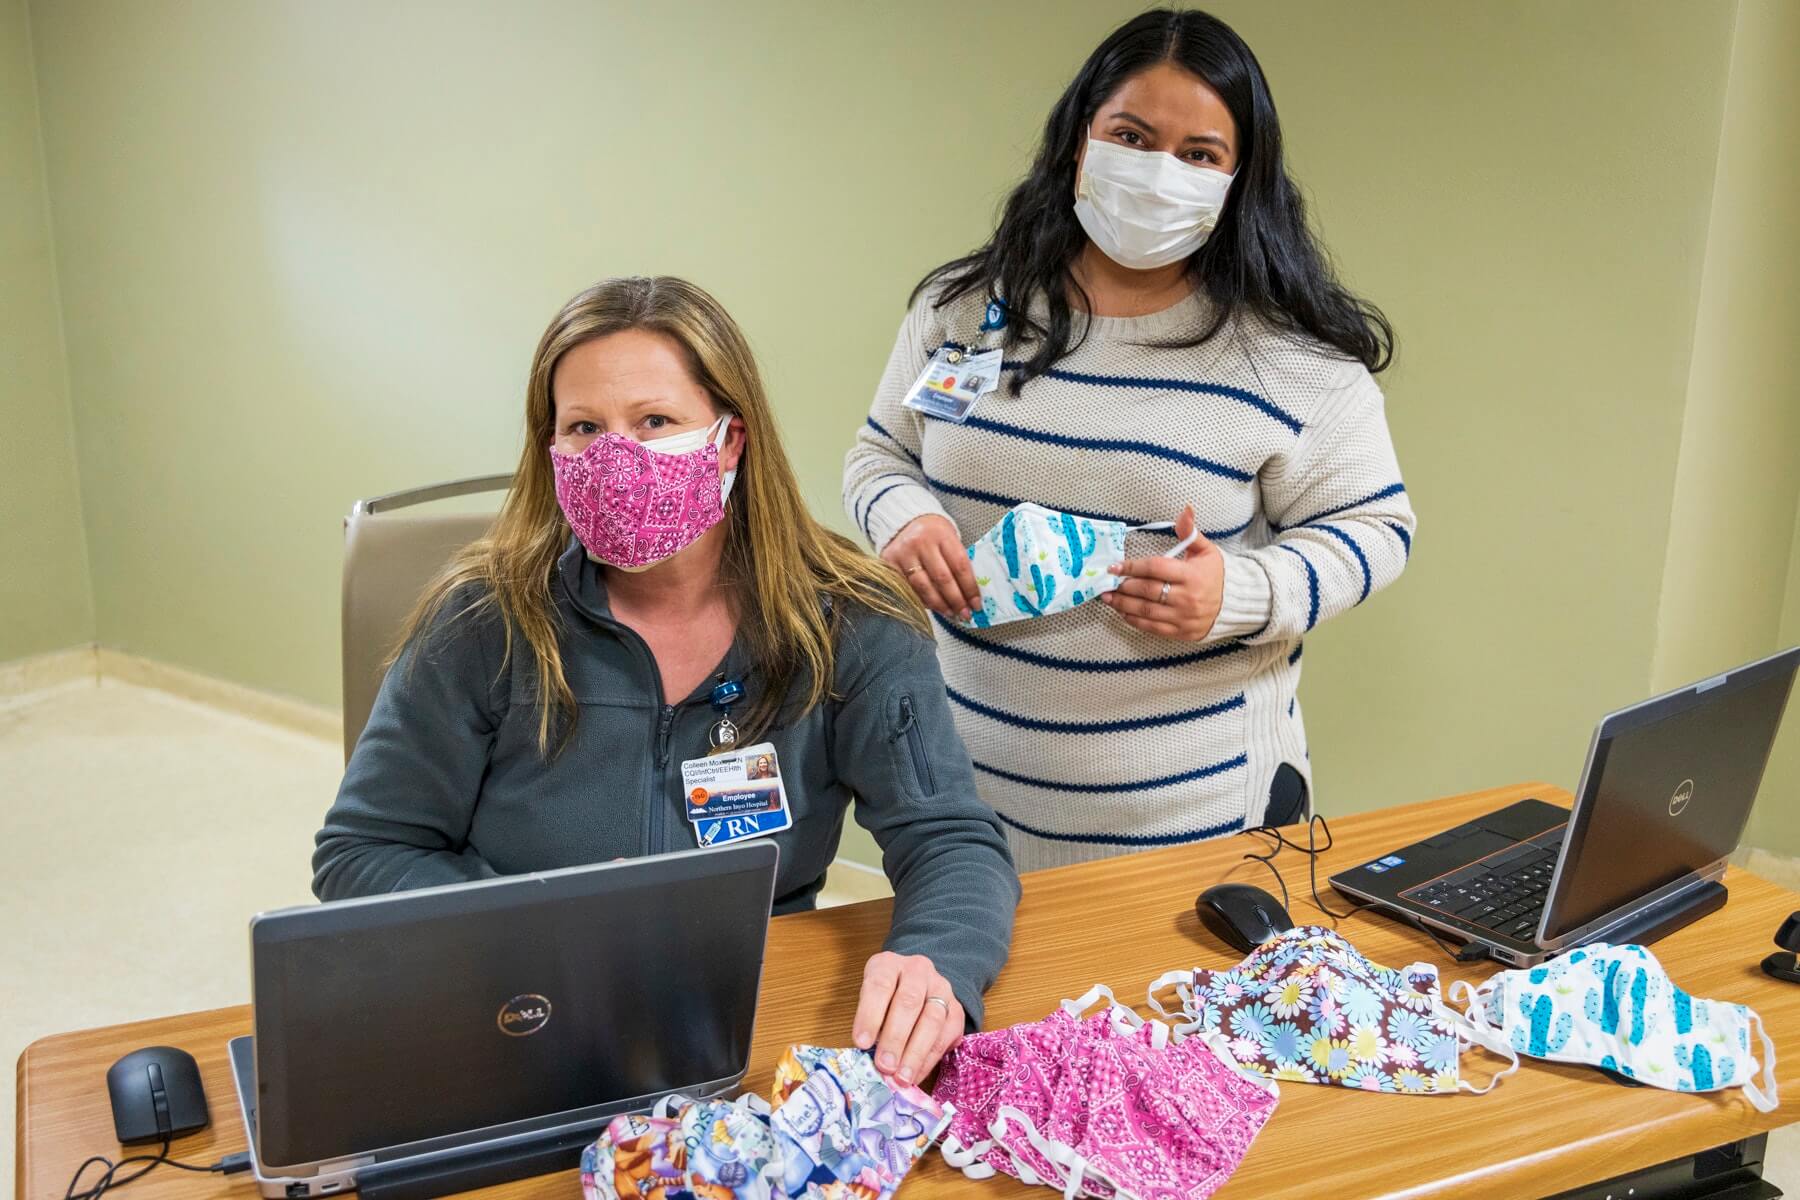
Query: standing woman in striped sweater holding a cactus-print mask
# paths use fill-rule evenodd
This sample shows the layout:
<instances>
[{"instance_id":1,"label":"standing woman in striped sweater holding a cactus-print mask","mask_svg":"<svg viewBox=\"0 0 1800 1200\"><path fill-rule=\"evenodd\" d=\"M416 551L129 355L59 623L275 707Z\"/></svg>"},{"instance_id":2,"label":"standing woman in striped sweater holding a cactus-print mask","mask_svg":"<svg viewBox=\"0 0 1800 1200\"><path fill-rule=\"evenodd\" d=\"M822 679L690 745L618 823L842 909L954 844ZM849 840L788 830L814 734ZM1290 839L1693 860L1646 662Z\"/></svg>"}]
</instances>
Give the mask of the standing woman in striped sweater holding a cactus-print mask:
<instances>
[{"instance_id":1,"label":"standing woman in striped sweater holding a cactus-print mask","mask_svg":"<svg viewBox=\"0 0 1800 1200\"><path fill-rule=\"evenodd\" d=\"M914 290L844 506L934 613L1022 871L1307 811L1301 637L1411 552L1372 378L1391 345L1206 13L1114 31L994 237ZM992 349L999 387L958 421L941 387Z\"/></svg>"}]
</instances>

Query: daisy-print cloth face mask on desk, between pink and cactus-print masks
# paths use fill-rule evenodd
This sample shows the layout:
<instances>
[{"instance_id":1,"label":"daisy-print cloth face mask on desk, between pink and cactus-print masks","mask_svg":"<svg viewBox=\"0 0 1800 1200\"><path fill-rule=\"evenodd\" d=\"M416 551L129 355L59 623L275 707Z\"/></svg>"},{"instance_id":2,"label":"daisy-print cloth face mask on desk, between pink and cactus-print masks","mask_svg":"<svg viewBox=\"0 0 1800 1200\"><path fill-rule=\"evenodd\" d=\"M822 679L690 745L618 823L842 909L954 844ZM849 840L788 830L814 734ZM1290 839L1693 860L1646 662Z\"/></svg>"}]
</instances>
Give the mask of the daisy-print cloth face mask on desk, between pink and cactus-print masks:
<instances>
[{"instance_id":1,"label":"daisy-print cloth face mask on desk, between pink and cactus-print masks","mask_svg":"<svg viewBox=\"0 0 1800 1200\"><path fill-rule=\"evenodd\" d=\"M1150 984L1181 997L1175 1036L1226 1038L1247 1070L1273 1079L1336 1083L1364 1092L1481 1094L1519 1069L1507 1040L1444 1004L1438 968L1377 966L1341 934L1316 925L1267 939L1224 972L1170 972ZM1166 1013L1165 1013L1166 1015ZM1512 1065L1474 1087L1462 1054L1481 1045Z\"/></svg>"}]
</instances>

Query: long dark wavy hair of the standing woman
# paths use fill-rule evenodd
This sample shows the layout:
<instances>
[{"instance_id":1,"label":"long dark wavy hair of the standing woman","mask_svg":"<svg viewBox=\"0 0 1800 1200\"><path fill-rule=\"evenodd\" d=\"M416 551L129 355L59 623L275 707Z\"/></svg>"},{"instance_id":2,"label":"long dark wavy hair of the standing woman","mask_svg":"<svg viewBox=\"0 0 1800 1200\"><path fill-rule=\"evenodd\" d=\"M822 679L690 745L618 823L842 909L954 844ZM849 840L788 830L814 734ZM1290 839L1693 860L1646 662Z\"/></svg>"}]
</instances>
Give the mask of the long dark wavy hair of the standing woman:
<instances>
[{"instance_id":1,"label":"long dark wavy hair of the standing woman","mask_svg":"<svg viewBox=\"0 0 1800 1200\"><path fill-rule=\"evenodd\" d=\"M947 304L970 291L1008 302L1004 344L1031 344L1012 392L1049 371L1080 345L1071 299L1089 311L1075 259L1087 243L1075 218L1075 157L1094 113L1120 86L1157 63L1174 63L1206 81L1231 110L1238 130L1238 167L1219 225L1188 273L1211 300L1211 318L1192 347L1211 340L1238 313L1318 342L1372 372L1393 358L1393 326L1381 309L1352 295L1307 228L1300 189L1282 162L1282 122L1256 56L1217 16L1152 9L1120 25L1087 56L1062 99L1049 110L1037 160L1001 212L999 228L979 250L945 263L913 288ZM1048 320L1026 313L1042 297ZM1085 327L1082 336L1085 336Z\"/></svg>"}]
</instances>

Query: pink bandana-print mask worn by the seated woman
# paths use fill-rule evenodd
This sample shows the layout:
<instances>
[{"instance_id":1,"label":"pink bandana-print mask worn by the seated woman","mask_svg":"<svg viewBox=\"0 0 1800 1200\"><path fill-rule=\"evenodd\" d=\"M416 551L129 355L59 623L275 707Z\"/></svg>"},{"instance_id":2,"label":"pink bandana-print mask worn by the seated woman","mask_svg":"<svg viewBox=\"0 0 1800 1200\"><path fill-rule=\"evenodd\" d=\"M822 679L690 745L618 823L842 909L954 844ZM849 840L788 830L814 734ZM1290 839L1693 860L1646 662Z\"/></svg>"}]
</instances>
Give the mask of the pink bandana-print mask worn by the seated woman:
<instances>
[{"instance_id":1,"label":"pink bandana-print mask worn by the seated woman","mask_svg":"<svg viewBox=\"0 0 1800 1200\"><path fill-rule=\"evenodd\" d=\"M693 434L648 443L601 434L581 453L551 446L556 504L587 552L610 567L643 570L716 525L731 489L718 475L729 426L731 417L720 417L695 448Z\"/></svg>"}]
</instances>

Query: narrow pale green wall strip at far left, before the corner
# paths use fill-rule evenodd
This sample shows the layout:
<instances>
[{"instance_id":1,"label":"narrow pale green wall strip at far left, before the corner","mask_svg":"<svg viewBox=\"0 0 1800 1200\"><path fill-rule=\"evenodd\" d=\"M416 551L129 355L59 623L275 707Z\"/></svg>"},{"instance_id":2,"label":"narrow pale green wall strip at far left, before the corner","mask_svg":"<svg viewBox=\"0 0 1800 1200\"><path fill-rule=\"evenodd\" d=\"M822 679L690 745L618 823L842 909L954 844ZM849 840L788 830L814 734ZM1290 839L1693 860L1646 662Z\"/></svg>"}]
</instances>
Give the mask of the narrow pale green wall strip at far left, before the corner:
<instances>
[{"instance_id":1,"label":"narrow pale green wall strip at far left, before the corner","mask_svg":"<svg viewBox=\"0 0 1800 1200\"><path fill-rule=\"evenodd\" d=\"M0 662L92 640L31 22L0 0Z\"/></svg>"}]
</instances>

